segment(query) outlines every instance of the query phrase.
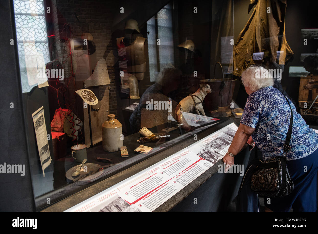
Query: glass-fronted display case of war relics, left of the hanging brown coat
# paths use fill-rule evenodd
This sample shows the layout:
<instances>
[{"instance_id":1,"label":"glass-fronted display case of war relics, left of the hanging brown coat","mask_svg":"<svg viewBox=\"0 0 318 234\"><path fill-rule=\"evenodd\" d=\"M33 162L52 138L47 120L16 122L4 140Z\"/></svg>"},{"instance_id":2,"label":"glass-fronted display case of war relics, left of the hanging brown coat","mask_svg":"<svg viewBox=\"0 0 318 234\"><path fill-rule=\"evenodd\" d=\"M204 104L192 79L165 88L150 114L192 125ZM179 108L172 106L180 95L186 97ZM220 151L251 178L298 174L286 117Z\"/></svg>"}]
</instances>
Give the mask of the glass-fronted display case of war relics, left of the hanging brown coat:
<instances>
[{"instance_id":1,"label":"glass-fronted display case of war relics, left of the hanging brown coat","mask_svg":"<svg viewBox=\"0 0 318 234\"><path fill-rule=\"evenodd\" d=\"M13 1L37 210L232 114L232 45L212 35L213 3L193 4Z\"/></svg>"}]
</instances>

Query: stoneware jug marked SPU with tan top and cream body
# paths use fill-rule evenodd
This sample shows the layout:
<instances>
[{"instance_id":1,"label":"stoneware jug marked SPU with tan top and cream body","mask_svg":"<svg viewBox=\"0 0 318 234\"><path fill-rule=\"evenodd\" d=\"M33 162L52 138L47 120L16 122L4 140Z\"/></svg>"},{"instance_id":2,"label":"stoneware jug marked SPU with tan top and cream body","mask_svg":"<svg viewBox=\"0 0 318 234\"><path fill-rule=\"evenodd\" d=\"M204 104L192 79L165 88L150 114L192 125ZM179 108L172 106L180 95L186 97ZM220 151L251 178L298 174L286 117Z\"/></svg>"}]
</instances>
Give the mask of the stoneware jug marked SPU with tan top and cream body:
<instances>
[{"instance_id":1,"label":"stoneware jug marked SPU with tan top and cream body","mask_svg":"<svg viewBox=\"0 0 318 234\"><path fill-rule=\"evenodd\" d=\"M107 117L108 120L102 125L103 149L108 152L115 152L123 146L122 126L115 119L114 114L109 114Z\"/></svg>"}]
</instances>

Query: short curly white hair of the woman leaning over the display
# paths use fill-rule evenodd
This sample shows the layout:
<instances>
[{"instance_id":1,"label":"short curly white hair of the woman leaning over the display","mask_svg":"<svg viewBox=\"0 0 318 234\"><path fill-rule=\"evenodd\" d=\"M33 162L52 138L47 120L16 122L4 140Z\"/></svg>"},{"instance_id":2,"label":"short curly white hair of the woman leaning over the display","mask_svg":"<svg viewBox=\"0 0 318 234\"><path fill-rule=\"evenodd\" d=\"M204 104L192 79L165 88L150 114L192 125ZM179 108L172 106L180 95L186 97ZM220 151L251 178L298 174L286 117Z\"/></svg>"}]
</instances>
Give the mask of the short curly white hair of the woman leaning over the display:
<instances>
[{"instance_id":1,"label":"short curly white hair of the woman leaning over the display","mask_svg":"<svg viewBox=\"0 0 318 234\"><path fill-rule=\"evenodd\" d=\"M266 68L252 65L242 72L242 83L255 92L261 88L273 86L274 79Z\"/></svg>"}]
</instances>

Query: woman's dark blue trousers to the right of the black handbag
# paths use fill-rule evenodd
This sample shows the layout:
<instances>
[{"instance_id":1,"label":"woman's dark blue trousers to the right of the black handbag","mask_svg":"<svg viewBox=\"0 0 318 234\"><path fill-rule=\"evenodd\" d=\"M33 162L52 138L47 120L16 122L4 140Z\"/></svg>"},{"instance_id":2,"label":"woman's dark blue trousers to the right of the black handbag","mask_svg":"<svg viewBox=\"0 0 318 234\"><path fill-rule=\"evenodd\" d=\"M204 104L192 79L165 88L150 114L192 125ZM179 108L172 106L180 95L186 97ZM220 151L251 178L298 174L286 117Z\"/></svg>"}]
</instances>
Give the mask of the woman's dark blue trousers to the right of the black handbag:
<instances>
[{"instance_id":1,"label":"woman's dark blue trousers to the right of the black handbag","mask_svg":"<svg viewBox=\"0 0 318 234\"><path fill-rule=\"evenodd\" d=\"M312 154L287 161L294 190L283 197L265 198L265 206L274 212L315 212L317 210L318 149Z\"/></svg>"}]
</instances>

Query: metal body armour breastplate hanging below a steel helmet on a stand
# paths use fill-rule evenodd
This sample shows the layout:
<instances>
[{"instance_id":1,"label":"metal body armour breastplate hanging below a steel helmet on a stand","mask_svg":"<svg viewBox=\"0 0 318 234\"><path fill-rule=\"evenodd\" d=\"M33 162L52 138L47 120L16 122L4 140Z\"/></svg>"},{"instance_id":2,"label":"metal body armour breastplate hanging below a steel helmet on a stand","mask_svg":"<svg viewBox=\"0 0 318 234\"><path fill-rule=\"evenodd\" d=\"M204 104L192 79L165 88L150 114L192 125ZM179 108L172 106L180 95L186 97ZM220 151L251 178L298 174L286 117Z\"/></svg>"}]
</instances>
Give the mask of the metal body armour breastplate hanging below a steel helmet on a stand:
<instances>
[{"instance_id":1,"label":"metal body armour breastplate hanging below a steel helmet on a stand","mask_svg":"<svg viewBox=\"0 0 318 234\"><path fill-rule=\"evenodd\" d=\"M133 43L124 43L124 37L117 38L119 67L132 73L137 79L143 79L146 71L144 44L146 38L137 37Z\"/></svg>"}]
</instances>

